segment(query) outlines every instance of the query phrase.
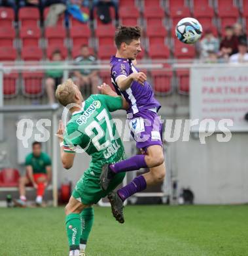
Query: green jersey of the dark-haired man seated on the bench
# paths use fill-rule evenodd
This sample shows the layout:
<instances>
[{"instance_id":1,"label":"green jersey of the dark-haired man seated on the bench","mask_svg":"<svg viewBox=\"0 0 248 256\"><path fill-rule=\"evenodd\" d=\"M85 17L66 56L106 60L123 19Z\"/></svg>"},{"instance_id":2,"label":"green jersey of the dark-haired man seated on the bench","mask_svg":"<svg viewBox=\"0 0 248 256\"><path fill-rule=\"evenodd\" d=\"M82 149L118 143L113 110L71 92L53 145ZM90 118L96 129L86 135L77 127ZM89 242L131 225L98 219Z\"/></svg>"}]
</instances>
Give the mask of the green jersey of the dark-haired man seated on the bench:
<instances>
[{"instance_id":1,"label":"green jersey of the dark-haired man seated on the bench","mask_svg":"<svg viewBox=\"0 0 248 256\"><path fill-rule=\"evenodd\" d=\"M34 156L33 153L28 154L25 161L26 166L31 165L33 173L46 173L46 166L51 164L50 157L44 152L41 152L39 157Z\"/></svg>"}]
</instances>

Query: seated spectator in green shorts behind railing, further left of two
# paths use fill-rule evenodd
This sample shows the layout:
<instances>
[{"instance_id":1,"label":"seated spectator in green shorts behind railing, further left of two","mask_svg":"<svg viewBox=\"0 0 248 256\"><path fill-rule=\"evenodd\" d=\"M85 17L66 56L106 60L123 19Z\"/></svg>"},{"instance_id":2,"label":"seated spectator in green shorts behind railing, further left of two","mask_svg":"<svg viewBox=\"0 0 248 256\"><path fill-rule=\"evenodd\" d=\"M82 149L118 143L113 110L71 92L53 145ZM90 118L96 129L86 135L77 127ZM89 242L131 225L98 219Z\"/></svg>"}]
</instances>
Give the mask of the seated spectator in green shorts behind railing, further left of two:
<instances>
[{"instance_id":1,"label":"seated spectator in green shorts behind railing, further left of two","mask_svg":"<svg viewBox=\"0 0 248 256\"><path fill-rule=\"evenodd\" d=\"M52 53L52 62L49 63L51 69L46 70L46 80L44 82L46 87L46 94L50 104L55 102L55 91L57 86L62 83L63 70L52 70L52 66L60 64L60 61L62 61L62 54L60 50L55 50Z\"/></svg>"}]
</instances>

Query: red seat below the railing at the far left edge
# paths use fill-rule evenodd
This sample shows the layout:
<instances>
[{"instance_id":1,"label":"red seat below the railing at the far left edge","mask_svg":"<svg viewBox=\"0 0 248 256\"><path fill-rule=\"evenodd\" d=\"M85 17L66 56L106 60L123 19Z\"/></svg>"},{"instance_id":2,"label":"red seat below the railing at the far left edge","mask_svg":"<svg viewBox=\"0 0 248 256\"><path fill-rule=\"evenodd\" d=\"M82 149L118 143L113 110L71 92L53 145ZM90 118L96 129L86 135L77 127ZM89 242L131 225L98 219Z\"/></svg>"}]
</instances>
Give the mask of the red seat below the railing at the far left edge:
<instances>
[{"instance_id":1,"label":"red seat below the railing at the far left edge","mask_svg":"<svg viewBox=\"0 0 248 256\"><path fill-rule=\"evenodd\" d=\"M17 95L18 88L16 85L18 79L17 73L3 75L3 96L5 98L12 98Z\"/></svg>"}]
</instances>

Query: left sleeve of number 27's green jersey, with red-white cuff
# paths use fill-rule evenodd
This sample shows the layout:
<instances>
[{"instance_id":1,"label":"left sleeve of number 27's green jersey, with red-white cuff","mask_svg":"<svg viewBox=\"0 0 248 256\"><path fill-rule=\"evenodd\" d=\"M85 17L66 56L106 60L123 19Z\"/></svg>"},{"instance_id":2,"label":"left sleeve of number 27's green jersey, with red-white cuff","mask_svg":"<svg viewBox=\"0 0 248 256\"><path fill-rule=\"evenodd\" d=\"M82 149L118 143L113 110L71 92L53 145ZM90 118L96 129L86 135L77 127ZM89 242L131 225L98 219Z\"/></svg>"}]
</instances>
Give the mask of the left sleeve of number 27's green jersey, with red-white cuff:
<instances>
[{"instance_id":1,"label":"left sleeve of number 27's green jersey, with red-white cuff","mask_svg":"<svg viewBox=\"0 0 248 256\"><path fill-rule=\"evenodd\" d=\"M83 134L78 130L78 126L75 123L68 123L63 135L63 151L69 153L75 153L78 145L82 144Z\"/></svg>"}]
</instances>

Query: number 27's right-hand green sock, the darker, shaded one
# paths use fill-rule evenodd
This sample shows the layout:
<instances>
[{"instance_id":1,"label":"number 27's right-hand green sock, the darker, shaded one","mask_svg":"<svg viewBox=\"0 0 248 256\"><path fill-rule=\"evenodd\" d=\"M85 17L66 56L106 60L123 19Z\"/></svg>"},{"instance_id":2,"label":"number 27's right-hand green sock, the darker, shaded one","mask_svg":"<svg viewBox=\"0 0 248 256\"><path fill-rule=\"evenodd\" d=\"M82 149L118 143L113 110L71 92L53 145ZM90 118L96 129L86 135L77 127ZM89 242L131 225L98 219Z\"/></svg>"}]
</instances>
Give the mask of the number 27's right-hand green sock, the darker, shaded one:
<instances>
[{"instance_id":1,"label":"number 27's right-hand green sock, the darker, shaded one","mask_svg":"<svg viewBox=\"0 0 248 256\"><path fill-rule=\"evenodd\" d=\"M80 213L81 224L82 224L82 233L80 237L80 249L85 249L88 237L90 236L90 230L92 229L94 223L94 209L89 207L84 209Z\"/></svg>"}]
</instances>

